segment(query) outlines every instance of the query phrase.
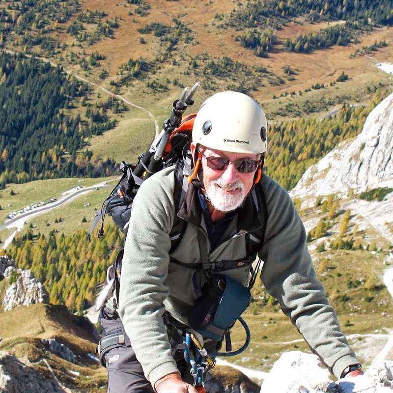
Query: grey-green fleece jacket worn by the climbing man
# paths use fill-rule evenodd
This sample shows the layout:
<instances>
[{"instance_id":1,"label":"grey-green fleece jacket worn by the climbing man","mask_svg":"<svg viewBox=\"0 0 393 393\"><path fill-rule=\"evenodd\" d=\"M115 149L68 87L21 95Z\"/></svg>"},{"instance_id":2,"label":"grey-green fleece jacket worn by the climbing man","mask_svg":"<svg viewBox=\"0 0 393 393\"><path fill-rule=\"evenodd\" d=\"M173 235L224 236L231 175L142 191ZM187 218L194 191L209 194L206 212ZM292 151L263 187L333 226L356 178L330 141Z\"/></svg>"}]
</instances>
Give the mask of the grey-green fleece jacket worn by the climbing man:
<instances>
[{"instance_id":1,"label":"grey-green fleece jacket worn by the climbing man","mask_svg":"<svg viewBox=\"0 0 393 393\"><path fill-rule=\"evenodd\" d=\"M188 224L179 246L169 255L174 185L173 168L154 174L141 185L133 202L121 271L119 314L153 386L159 378L177 371L162 316L167 310L187 325L187 315L196 301L192 280L195 270L184 264L201 263L198 231L206 241L209 260L219 262L245 258L245 233L260 226L248 197L221 242L211 250L197 189L190 185L178 213ZM265 239L258 253L263 261L262 282L311 350L339 378L345 367L359 361L316 279L306 231L288 193L265 174L261 185L268 210ZM170 262L170 257L182 264ZM246 284L249 266L225 270L224 274ZM203 285L203 277L200 283Z\"/></svg>"}]
</instances>

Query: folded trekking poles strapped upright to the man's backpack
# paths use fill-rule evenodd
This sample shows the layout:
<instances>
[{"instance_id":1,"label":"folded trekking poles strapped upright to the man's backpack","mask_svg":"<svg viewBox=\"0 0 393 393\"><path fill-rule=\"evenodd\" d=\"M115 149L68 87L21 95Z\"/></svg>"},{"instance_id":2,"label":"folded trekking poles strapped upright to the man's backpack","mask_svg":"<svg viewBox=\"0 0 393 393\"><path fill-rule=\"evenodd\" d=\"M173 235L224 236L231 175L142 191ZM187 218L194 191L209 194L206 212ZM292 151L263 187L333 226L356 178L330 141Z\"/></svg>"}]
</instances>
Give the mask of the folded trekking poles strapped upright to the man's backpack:
<instances>
[{"instance_id":1,"label":"folded trekking poles strapped upright to the man's backpack","mask_svg":"<svg viewBox=\"0 0 393 393\"><path fill-rule=\"evenodd\" d=\"M198 85L199 82L194 84L190 91L189 87L185 87L180 98L173 101L170 117L164 121L163 130L158 138L150 145L149 149L140 157L140 161L134 169L136 176L143 176L143 179L147 179L161 169L161 159L168 144L170 134L180 125L182 115L187 107L191 107L194 104L193 97Z\"/></svg>"}]
</instances>

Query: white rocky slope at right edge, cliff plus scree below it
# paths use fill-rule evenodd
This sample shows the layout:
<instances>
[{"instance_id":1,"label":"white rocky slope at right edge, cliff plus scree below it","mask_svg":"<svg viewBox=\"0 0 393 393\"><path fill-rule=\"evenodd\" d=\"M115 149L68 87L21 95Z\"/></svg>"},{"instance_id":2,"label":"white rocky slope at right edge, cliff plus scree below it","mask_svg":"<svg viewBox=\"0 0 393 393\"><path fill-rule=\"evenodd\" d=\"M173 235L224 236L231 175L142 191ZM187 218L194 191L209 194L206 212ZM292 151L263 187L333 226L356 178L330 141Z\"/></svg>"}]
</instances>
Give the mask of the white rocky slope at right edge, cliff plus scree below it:
<instances>
[{"instance_id":1,"label":"white rocky slope at right edge, cliff plus scree below it","mask_svg":"<svg viewBox=\"0 0 393 393\"><path fill-rule=\"evenodd\" d=\"M319 163L309 167L292 198L303 207L318 198L335 195L342 209L352 213L352 225L373 229L374 239L382 238L393 247L393 94L367 117L362 133L342 142ZM355 197L354 197L355 196ZM309 230L315 223L305 218Z\"/></svg>"}]
</instances>

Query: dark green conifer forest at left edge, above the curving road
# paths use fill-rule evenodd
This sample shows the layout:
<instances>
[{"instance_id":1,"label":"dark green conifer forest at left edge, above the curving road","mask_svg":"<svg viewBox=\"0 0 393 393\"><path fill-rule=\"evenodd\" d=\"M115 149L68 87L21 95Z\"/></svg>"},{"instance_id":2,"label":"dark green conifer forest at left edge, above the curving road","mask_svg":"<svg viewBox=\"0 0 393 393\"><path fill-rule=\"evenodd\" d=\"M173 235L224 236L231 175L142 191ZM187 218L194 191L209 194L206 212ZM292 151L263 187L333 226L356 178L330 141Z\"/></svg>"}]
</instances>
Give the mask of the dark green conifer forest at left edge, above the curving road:
<instances>
[{"instance_id":1,"label":"dark green conifer forest at left edge, above the curving road","mask_svg":"<svg viewBox=\"0 0 393 393\"><path fill-rule=\"evenodd\" d=\"M86 119L64 112L88 87L34 56L0 54L0 186L5 183L114 173L114 162L77 151L116 125L107 108L86 105ZM98 163L100 164L98 165Z\"/></svg>"}]
</instances>

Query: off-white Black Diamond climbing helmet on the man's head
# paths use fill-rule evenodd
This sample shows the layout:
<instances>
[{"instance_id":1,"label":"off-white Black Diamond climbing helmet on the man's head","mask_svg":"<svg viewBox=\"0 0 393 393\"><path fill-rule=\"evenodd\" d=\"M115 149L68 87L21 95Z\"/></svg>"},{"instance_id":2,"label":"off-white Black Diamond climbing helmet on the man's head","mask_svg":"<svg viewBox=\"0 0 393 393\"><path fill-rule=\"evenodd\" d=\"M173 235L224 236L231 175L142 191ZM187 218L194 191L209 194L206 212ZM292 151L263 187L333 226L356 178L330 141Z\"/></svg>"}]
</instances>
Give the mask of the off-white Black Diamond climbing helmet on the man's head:
<instances>
[{"instance_id":1,"label":"off-white Black Diamond climbing helmet on the man's head","mask_svg":"<svg viewBox=\"0 0 393 393\"><path fill-rule=\"evenodd\" d=\"M234 153L267 151L267 121L262 108L248 95L223 91L199 108L193 142Z\"/></svg>"}]
</instances>

